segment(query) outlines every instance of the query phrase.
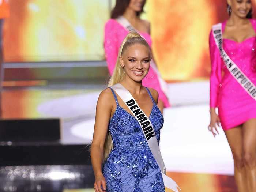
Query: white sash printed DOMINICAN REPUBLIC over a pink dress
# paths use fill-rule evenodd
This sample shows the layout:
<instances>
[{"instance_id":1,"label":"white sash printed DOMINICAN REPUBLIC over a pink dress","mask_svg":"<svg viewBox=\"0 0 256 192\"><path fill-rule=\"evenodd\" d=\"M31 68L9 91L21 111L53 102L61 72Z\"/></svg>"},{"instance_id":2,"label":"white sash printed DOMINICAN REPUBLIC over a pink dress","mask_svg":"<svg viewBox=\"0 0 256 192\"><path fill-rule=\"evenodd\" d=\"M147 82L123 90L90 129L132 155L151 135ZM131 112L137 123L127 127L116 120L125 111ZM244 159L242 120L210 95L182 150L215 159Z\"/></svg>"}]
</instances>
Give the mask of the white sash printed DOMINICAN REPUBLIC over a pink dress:
<instances>
[{"instance_id":1,"label":"white sash printed DOMINICAN REPUBLIC over a pink dress","mask_svg":"<svg viewBox=\"0 0 256 192\"><path fill-rule=\"evenodd\" d=\"M221 53L221 57L229 70L230 74L237 80L237 82L244 88L244 90L256 100L256 87L250 79L241 71L241 69L230 59L223 49L222 24L218 23L212 26L212 34L217 47Z\"/></svg>"}]
</instances>

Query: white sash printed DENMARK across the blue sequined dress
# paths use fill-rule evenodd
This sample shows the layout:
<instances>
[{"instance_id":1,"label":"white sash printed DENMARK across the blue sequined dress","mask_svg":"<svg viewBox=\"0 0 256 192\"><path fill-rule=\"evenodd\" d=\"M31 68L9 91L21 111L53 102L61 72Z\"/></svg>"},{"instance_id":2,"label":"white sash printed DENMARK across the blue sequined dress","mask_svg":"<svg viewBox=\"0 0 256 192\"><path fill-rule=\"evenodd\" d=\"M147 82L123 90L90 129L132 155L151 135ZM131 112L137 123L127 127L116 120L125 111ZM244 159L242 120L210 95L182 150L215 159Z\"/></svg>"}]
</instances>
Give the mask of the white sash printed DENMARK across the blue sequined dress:
<instances>
[{"instance_id":1,"label":"white sash printed DENMARK across the blue sequined dress","mask_svg":"<svg viewBox=\"0 0 256 192\"><path fill-rule=\"evenodd\" d=\"M131 93L127 89L125 89L123 85L121 85L120 83L115 84L114 86L112 86L112 89L116 91L119 97L124 101L125 105L131 110L132 114L134 114L134 116L138 120L140 128L142 129L142 132L144 133L144 136L148 143L148 146L155 160L157 161L159 168L161 169L163 183L165 187L172 189L175 192L178 192L178 188L180 189L180 187L178 187L176 182L173 181L170 177L166 176L165 164L163 162L163 158L158 146L157 138L155 137L155 131L151 121L142 111L142 109L140 109L140 106L132 97Z\"/></svg>"}]
</instances>

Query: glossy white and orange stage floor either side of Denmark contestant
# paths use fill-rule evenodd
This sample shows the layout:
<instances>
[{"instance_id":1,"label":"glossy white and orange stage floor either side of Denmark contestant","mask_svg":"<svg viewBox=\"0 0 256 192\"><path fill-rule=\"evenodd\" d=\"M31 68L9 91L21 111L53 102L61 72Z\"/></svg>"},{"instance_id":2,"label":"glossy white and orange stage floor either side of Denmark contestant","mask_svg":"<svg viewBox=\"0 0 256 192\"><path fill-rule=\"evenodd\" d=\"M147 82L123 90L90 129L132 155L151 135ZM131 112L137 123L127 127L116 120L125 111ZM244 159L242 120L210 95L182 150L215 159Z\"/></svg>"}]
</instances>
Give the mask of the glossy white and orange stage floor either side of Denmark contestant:
<instances>
[{"instance_id":1,"label":"glossy white and orange stage floor either side of Denmark contestant","mask_svg":"<svg viewBox=\"0 0 256 192\"><path fill-rule=\"evenodd\" d=\"M168 174L182 191L236 192L225 134L220 129L220 135L214 138L207 129L208 87L208 82L169 85L172 107L164 110L161 152ZM103 89L94 85L5 88L3 117L58 117L62 121L62 143L88 144L93 136L95 105Z\"/></svg>"}]
</instances>

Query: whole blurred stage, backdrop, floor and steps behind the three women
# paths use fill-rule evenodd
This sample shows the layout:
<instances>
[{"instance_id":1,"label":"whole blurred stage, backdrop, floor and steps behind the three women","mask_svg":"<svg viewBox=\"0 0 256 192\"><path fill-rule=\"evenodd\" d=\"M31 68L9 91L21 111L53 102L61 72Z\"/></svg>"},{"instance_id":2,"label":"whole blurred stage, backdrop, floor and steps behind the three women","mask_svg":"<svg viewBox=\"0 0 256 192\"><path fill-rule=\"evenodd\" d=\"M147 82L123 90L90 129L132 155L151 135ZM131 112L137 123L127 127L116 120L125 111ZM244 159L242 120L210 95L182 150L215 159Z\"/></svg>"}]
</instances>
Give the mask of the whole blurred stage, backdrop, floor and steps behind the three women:
<instances>
[{"instance_id":1,"label":"whole blurred stage, backdrop, floor and steps behind the three women","mask_svg":"<svg viewBox=\"0 0 256 192\"><path fill-rule=\"evenodd\" d=\"M8 3L0 191L94 191L88 145L109 79L103 35L115 0ZM226 1L147 0L144 10L172 104L160 143L168 175L182 191L236 192L224 132L214 138L207 129L208 37L227 19Z\"/></svg>"}]
</instances>

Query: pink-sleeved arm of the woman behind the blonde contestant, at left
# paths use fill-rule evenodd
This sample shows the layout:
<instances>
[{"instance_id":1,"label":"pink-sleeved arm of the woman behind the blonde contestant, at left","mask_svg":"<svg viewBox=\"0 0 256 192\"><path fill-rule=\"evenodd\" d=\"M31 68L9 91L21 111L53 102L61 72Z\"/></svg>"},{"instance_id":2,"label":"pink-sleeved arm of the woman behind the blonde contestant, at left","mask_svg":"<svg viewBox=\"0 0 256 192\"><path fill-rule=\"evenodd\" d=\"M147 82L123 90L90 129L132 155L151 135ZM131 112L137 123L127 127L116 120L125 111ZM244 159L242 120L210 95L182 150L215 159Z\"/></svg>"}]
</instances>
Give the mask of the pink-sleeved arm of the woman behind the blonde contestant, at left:
<instances>
[{"instance_id":1,"label":"pink-sleeved arm of the woman behind the blonde contestant, at left","mask_svg":"<svg viewBox=\"0 0 256 192\"><path fill-rule=\"evenodd\" d=\"M114 30L116 25L113 19L106 22L105 34L104 34L104 49L105 57L108 64L109 74L112 75L114 67L116 66L117 56L118 56L118 41L117 34Z\"/></svg>"}]
</instances>

